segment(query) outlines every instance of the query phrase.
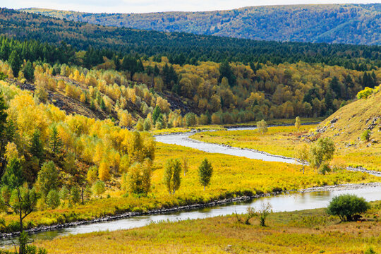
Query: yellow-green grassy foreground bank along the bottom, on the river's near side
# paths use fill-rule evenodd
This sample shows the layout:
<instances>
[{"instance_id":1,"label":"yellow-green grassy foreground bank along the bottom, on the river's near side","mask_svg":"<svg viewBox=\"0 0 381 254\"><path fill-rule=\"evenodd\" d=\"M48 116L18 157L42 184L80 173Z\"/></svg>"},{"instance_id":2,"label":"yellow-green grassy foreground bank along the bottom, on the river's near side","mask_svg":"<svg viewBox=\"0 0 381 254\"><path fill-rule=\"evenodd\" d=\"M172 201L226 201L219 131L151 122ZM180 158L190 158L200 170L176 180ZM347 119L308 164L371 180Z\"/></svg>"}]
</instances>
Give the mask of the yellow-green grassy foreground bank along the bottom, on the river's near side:
<instances>
[{"instance_id":1,"label":"yellow-green grassy foreground bank along the bottom, on the river's near side","mask_svg":"<svg viewBox=\"0 0 381 254\"><path fill-rule=\"evenodd\" d=\"M37 241L49 253L364 253L381 251L380 202L366 222L338 223L323 209L270 214L267 227L238 224L234 216L150 224Z\"/></svg>"}]
</instances>

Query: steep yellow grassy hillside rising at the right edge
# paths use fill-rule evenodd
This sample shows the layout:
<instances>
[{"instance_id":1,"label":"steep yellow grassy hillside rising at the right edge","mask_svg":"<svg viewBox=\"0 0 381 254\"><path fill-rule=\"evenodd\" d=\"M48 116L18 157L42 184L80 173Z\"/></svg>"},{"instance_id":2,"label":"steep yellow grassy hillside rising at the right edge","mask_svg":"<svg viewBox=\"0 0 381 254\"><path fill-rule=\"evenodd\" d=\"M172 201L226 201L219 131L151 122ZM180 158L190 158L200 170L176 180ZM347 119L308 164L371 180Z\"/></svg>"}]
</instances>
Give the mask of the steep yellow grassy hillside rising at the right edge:
<instances>
[{"instance_id":1,"label":"steep yellow grassy hillside rising at the right edge","mask_svg":"<svg viewBox=\"0 0 381 254\"><path fill-rule=\"evenodd\" d=\"M378 120L370 140L377 143L362 141L361 134L375 118ZM333 119L337 119L337 122L331 123ZM323 121L318 129L325 126L327 129L321 135L332 138L337 144L338 159L354 167L381 171L381 92L342 107Z\"/></svg>"}]
</instances>

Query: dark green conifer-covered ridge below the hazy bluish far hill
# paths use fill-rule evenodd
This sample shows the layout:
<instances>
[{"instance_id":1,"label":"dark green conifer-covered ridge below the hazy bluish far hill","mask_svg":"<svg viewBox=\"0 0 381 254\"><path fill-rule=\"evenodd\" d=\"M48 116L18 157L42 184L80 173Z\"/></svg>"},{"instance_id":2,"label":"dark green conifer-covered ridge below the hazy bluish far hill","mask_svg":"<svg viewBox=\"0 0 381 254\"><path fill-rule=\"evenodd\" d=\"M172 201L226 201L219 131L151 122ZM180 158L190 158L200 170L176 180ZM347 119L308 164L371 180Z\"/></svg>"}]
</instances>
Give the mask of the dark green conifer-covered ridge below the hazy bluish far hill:
<instances>
[{"instance_id":1,"label":"dark green conifer-covered ridge below the hazy bluish far hill","mask_svg":"<svg viewBox=\"0 0 381 254\"><path fill-rule=\"evenodd\" d=\"M304 61L344 66L358 71L367 69L361 62L381 66L380 46L266 42L184 32L113 28L6 8L0 8L0 33L18 40L32 39L55 44L66 42L78 50L91 46L95 49L157 56L158 59L167 56L169 63L181 65L195 64L198 61L227 60L243 63Z\"/></svg>"}]
</instances>

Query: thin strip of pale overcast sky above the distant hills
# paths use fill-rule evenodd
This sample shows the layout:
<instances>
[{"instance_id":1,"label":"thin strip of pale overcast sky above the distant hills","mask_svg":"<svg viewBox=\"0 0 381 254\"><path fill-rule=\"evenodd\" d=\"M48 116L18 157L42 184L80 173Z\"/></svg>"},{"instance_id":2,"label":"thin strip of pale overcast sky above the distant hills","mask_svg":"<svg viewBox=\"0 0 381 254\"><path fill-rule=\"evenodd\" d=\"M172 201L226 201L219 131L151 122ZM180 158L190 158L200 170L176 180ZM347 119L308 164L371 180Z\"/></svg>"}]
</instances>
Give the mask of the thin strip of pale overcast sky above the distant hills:
<instances>
[{"instance_id":1,"label":"thin strip of pale overcast sky above the distant hills","mask_svg":"<svg viewBox=\"0 0 381 254\"><path fill-rule=\"evenodd\" d=\"M53 8L92 13L147 13L157 11L214 11L244 6L279 4L369 4L381 0L1 0L6 8Z\"/></svg>"}]
</instances>

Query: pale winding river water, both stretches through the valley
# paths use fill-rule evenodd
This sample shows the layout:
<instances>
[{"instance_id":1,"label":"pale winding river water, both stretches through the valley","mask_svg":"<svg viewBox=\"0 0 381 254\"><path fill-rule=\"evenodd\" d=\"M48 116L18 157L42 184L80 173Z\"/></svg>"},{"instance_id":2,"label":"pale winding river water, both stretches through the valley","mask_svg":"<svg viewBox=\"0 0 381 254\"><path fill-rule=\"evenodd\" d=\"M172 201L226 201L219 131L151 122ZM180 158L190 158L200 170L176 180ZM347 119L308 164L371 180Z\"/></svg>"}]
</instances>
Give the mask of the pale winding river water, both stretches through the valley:
<instances>
[{"instance_id":1,"label":"pale winding river water, both stretches through the valley","mask_svg":"<svg viewBox=\"0 0 381 254\"><path fill-rule=\"evenodd\" d=\"M183 145L193 147L204 152L219 152L226 155L235 155L241 157L248 157L250 159L263 159L270 162L286 162L295 163L294 159L285 159L282 157L272 157L271 155L262 154L260 152L253 152L251 150L241 150L234 147L225 147L222 145L214 145L208 143L200 143L191 140L189 137L191 133L186 134L173 134L157 136L156 139L162 143ZM207 207L199 210L190 210L183 212L174 212L171 214L151 214L147 216L131 217L126 219L119 219L109 222L99 222L93 224L85 224L80 226L73 226L66 229L58 229L54 231L44 231L37 234L32 234L32 239L52 239L59 236L66 236L68 234L84 234L94 231L114 231L121 229L133 229L140 226L145 226L152 222L160 221L179 221L184 219L204 219L207 217L216 217L221 215L233 214L234 212L244 213L248 207L259 208L262 203L270 202L274 212L296 211L327 207L329 201L335 195L344 193L356 194L365 198L368 201L375 201L381 199L381 184L354 186L349 189L339 189L332 191L313 191L308 193L289 193L265 198L257 198L248 202L237 202L229 205L222 205L219 207ZM0 246L9 246L16 238L0 239Z\"/></svg>"}]
</instances>

